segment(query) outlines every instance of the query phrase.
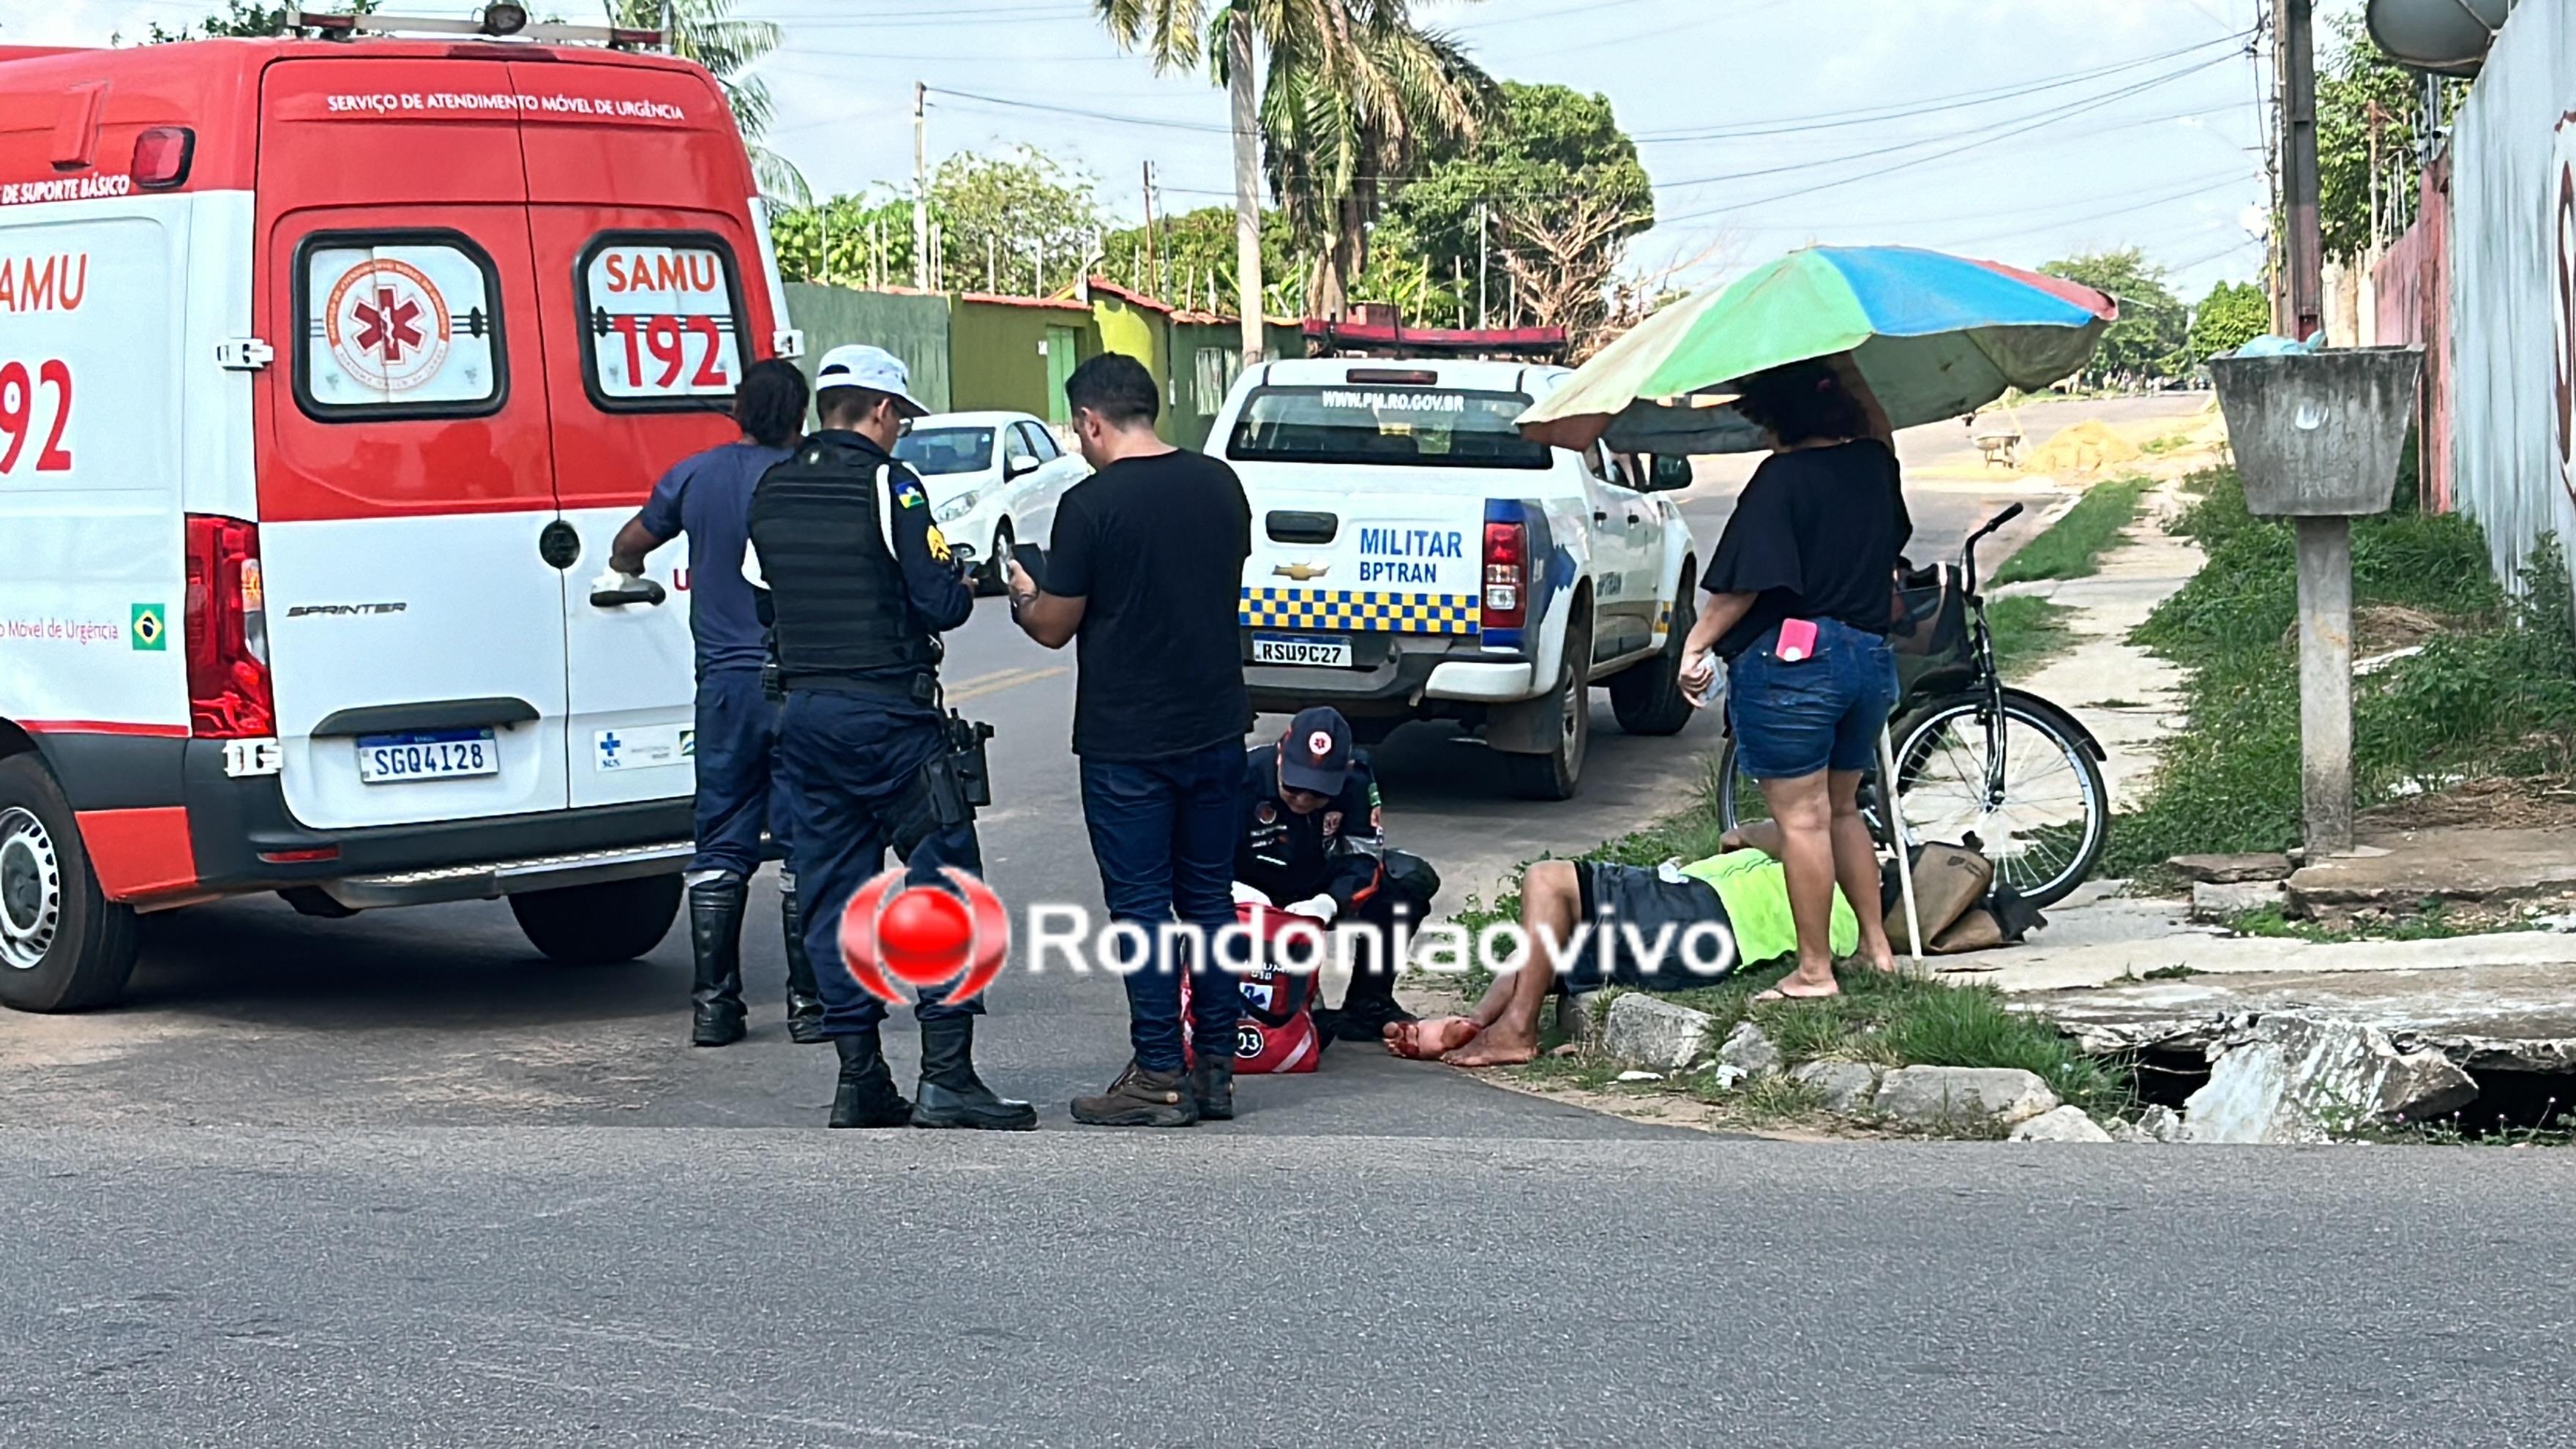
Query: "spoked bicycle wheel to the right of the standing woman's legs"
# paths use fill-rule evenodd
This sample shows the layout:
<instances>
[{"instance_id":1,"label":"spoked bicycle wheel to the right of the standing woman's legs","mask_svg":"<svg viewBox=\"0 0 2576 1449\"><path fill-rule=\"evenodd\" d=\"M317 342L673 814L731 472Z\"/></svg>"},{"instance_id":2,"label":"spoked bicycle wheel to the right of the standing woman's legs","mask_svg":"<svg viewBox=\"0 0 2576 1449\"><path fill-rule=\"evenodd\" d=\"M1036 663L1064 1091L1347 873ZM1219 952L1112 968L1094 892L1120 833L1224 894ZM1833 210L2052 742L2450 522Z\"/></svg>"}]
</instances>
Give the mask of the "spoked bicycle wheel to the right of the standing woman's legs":
<instances>
[{"instance_id":1,"label":"spoked bicycle wheel to the right of the standing woman's legs","mask_svg":"<svg viewBox=\"0 0 2576 1449\"><path fill-rule=\"evenodd\" d=\"M2053 704L2007 696L2002 727L1989 730L1984 699L1950 699L1901 719L1893 735L1896 799L1917 841L1976 835L1994 879L2030 905L2066 900L2102 859L2110 784Z\"/></svg>"}]
</instances>

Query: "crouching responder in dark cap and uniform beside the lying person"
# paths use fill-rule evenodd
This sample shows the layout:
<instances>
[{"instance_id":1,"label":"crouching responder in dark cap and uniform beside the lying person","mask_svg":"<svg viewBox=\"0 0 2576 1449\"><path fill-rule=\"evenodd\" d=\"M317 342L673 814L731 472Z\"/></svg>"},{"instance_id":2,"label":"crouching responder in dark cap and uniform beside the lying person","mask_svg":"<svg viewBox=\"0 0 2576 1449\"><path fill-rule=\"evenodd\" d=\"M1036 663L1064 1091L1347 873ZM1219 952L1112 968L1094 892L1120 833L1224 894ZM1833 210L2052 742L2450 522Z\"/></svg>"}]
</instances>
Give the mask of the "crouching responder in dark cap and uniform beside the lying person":
<instances>
[{"instance_id":1,"label":"crouching responder in dark cap and uniform beside the lying person","mask_svg":"<svg viewBox=\"0 0 2576 1449\"><path fill-rule=\"evenodd\" d=\"M1378 779L1340 709L1303 709L1278 743L1252 750L1234 897L1378 933L1376 962L1358 962L1340 1011L1316 1013L1316 1026L1376 1042L1388 1021L1412 1021L1396 1006L1394 928L1419 920L1437 890L1430 864L1386 848Z\"/></svg>"}]
</instances>

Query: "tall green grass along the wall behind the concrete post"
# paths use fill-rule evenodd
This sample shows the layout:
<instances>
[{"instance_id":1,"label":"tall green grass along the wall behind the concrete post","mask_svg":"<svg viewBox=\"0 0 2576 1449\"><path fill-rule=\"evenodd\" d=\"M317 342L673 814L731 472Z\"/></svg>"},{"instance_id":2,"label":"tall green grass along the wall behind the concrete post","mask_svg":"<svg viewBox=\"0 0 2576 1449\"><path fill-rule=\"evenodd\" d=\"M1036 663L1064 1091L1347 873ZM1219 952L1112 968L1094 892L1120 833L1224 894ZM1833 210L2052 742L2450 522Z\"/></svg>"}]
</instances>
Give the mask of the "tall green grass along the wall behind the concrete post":
<instances>
[{"instance_id":1,"label":"tall green grass along the wall behind the concrete post","mask_svg":"<svg viewBox=\"0 0 2576 1449\"><path fill-rule=\"evenodd\" d=\"M2282 851L2300 838L2298 565L2287 521L2254 518L2233 469L2190 482L2174 523L2208 565L2133 639L2187 668L2187 724L2148 797L2117 822L2107 874L2192 851ZM2458 779L2576 776L2576 608L2543 539L2514 596L2463 516L2398 511L2352 523L2352 598L2439 619L2424 652L2352 681L2357 807Z\"/></svg>"}]
</instances>

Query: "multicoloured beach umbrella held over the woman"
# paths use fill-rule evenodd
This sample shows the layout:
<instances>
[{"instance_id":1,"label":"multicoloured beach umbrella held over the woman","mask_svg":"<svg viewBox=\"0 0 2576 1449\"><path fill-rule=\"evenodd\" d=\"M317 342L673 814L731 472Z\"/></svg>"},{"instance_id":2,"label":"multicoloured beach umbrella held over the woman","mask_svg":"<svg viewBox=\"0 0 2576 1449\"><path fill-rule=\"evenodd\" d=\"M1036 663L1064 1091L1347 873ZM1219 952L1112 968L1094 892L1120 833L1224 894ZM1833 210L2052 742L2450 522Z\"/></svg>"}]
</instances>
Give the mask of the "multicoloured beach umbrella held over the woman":
<instances>
[{"instance_id":1,"label":"multicoloured beach umbrella held over the woman","mask_svg":"<svg viewBox=\"0 0 2576 1449\"><path fill-rule=\"evenodd\" d=\"M1520 431L1561 449L1741 454L1765 443L1728 407L1731 384L1832 353L1852 353L1888 420L1911 428L2063 379L2117 317L2089 286L1991 260L1806 248L1646 317Z\"/></svg>"}]
</instances>

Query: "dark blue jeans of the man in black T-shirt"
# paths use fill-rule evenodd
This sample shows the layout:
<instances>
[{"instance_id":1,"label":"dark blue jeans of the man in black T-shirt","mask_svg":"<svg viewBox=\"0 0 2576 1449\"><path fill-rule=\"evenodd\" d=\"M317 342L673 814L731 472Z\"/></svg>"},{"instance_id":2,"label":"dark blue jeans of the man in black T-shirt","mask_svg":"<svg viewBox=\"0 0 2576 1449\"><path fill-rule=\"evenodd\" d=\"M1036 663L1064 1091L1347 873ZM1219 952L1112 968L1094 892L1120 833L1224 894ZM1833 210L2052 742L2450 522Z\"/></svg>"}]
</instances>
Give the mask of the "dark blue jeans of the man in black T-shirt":
<instances>
[{"instance_id":1,"label":"dark blue jeans of the man in black T-shirt","mask_svg":"<svg viewBox=\"0 0 2576 1449\"><path fill-rule=\"evenodd\" d=\"M1100 861L1100 895L1110 920L1133 920L1151 936L1164 920L1200 931L1234 923L1234 835L1244 810L1244 748L1234 740L1164 761L1082 761L1082 820ZM1206 962L1190 962L1203 972ZM1146 964L1128 972L1128 1042L1136 1065L1177 1073L1180 975L1157 941ZM1203 977L1190 990L1198 1042L1234 1049L1244 993L1234 977Z\"/></svg>"}]
</instances>

